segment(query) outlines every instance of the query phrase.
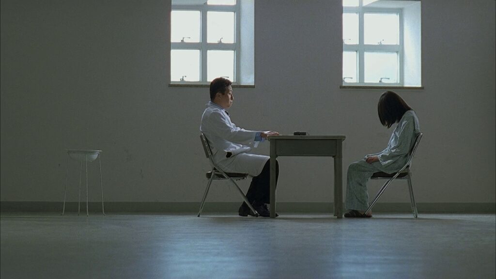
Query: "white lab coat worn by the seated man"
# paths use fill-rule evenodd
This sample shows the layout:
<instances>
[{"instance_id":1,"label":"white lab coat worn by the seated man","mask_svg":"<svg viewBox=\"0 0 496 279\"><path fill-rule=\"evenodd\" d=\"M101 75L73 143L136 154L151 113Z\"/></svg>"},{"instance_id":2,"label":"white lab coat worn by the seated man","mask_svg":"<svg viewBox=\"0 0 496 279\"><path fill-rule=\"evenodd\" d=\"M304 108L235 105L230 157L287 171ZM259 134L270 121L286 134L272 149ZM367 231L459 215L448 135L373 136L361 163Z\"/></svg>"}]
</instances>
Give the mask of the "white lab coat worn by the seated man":
<instances>
[{"instance_id":1,"label":"white lab coat worn by the seated man","mask_svg":"<svg viewBox=\"0 0 496 279\"><path fill-rule=\"evenodd\" d=\"M270 158L248 153L252 147L258 145L255 136L259 131L236 127L226 111L212 102L206 104L200 131L210 144L214 162L225 172L257 176ZM227 157L228 152L232 153L230 157Z\"/></svg>"}]
</instances>

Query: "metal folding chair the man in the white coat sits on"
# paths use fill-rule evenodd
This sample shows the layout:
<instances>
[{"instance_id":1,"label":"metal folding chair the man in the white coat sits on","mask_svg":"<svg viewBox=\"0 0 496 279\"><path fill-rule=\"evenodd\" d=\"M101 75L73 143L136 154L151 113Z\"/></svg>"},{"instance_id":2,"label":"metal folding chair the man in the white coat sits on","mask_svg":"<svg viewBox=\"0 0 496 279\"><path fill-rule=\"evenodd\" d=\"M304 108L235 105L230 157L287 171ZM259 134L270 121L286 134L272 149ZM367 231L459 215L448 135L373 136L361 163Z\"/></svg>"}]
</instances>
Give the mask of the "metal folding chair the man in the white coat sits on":
<instances>
[{"instance_id":1,"label":"metal folding chair the man in the white coat sits on","mask_svg":"<svg viewBox=\"0 0 496 279\"><path fill-rule=\"evenodd\" d=\"M210 189L210 185L214 180L229 180L230 182L232 182L236 186L236 189L238 189L238 192L243 198L243 201L245 201L245 203L248 205L249 209L253 212L255 216L258 216L258 212L251 206L251 204L248 202L247 197L241 190L240 186L238 186L238 184L236 183L237 180L246 179L248 177L248 174L224 172L214 163L212 159L212 151L210 149L210 145L208 144L208 140L203 133L200 134L200 139L201 139L201 144L203 146L203 150L205 151L205 155L207 156L208 160L210 161L210 165L212 166L212 170L206 173L206 176L208 178L208 184L207 184L207 189L205 190L205 194L203 194L203 199L201 200L201 206L200 206L200 211L198 212L198 217L200 216L201 211L203 210L203 206L205 205L205 199L207 198L208 195L208 190Z\"/></svg>"}]
</instances>

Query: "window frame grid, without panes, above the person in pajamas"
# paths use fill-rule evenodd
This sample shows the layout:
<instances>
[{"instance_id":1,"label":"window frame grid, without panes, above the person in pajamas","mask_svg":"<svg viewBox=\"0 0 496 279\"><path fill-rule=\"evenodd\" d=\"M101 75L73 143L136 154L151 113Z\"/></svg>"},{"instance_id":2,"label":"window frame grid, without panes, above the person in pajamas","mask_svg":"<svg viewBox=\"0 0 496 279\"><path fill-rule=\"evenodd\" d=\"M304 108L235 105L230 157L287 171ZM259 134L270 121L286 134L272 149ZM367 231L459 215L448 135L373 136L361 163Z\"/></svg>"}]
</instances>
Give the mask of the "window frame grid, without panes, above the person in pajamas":
<instances>
[{"instance_id":1,"label":"window frame grid, without panes, above the person in pajamas","mask_svg":"<svg viewBox=\"0 0 496 279\"><path fill-rule=\"evenodd\" d=\"M348 45L343 39L343 54L344 52L357 52L357 82L346 82L342 76L342 86L403 86L404 85L404 29L403 29L403 9L402 8L386 8L386 7L364 7L363 1L359 1L359 6L350 7L343 6L343 14L357 13L358 14L358 44ZM366 13L391 13L398 14L399 20L399 41L398 45L366 45L365 44L365 23L364 15ZM398 82L365 82L365 52L397 52L398 53Z\"/></svg>"}]
</instances>

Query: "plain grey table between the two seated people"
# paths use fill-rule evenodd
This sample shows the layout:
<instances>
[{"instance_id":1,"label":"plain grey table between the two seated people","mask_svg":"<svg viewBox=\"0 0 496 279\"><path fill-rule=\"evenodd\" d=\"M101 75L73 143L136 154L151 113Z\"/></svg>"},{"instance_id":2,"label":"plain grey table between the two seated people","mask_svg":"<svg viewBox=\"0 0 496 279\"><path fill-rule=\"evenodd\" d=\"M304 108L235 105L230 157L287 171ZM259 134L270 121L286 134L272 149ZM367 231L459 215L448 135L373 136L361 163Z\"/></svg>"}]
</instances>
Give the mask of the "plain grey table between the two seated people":
<instances>
[{"instance_id":1,"label":"plain grey table between the two seated people","mask_svg":"<svg viewBox=\"0 0 496 279\"><path fill-rule=\"evenodd\" d=\"M270 217L276 214L276 158L331 156L334 158L334 216L343 217L343 140L345 136L270 137Z\"/></svg>"}]
</instances>

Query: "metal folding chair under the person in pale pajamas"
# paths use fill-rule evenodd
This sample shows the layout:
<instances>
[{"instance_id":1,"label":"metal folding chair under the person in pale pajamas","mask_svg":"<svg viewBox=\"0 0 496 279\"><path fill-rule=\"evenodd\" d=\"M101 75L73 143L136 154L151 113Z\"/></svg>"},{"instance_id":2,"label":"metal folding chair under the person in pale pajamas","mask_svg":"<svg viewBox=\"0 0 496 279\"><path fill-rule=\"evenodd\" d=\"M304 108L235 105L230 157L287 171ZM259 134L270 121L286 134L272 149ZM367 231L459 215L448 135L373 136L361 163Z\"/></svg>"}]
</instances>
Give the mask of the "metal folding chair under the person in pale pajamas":
<instances>
[{"instance_id":1,"label":"metal folding chair under the person in pale pajamas","mask_svg":"<svg viewBox=\"0 0 496 279\"><path fill-rule=\"evenodd\" d=\"M372 175L371 179L387 179L386 183L380 188L379 192L377 192L377 195L375 195L375 198L372 200L372 203L370 204L369 208L365 210L365 214L369 213L372 210L372 207L374 206L375 202L379 199L379 197L382 195L384 190L386 190L387 186L395 180L395 179L403 179L403 180L408 180L408 189L410 190L410 203L412 206L412 211L413 215L415 218L417 218L418 215L418 210L417 210L417 203L415 202L415 197L413 195L413 186L412 186L412 172L410 171L410 167L412 166L412 159L413 156L415 155L415 151L417 151L417 147L419 146L420 139L422 139L422 133L417 135L417 138L415 138L415 142L412 146L412 150L410 150L410 153L408 154L408 161L407 163L396 173L385 173L385 172L376 172Z\"/></svg>"}]
</instances>

